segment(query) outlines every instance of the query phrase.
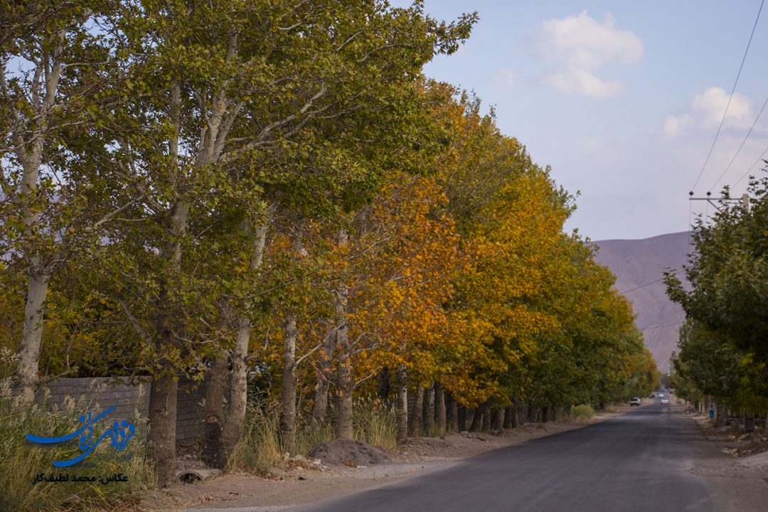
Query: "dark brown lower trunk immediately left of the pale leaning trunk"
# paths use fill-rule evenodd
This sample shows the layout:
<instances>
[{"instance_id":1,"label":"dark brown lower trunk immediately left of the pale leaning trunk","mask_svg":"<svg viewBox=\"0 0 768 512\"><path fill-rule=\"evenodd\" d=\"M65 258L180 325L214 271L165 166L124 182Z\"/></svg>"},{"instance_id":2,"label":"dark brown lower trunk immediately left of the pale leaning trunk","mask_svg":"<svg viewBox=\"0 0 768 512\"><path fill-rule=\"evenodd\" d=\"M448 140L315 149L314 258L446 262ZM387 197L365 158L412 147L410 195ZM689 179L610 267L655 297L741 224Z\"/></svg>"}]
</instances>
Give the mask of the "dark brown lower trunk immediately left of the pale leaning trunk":
<instances>
[{"instance_id":1,"label":"dark brown lower trunk immediately left of the pale leaning trunk","mask_svg":"<svg viewBox=\"0 0 768 512\"><path fill-rule=\"evenodd\" d=\"M200 457L210 467L224 469L227 454L221 436L224 424L224 386L227 381L227 356L221 355L208 369L205 379L205 433Z\"/></svg>"}]
</instances>

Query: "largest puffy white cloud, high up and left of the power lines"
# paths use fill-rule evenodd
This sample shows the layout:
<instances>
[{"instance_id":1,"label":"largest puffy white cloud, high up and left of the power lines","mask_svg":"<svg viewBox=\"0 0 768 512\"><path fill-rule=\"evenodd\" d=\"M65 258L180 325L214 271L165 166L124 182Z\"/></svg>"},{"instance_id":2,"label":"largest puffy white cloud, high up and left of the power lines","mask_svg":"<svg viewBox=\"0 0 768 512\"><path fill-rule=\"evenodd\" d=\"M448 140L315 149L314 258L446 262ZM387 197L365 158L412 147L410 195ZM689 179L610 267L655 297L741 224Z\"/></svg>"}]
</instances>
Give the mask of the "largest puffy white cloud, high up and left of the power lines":
<instances>
[{"instance_id":1,"label":"largest puffy white cloud, high up and left of the power lines","mask_svg":"<svg viewBox=\"0 0 768 512\"><path fill-rule=\"evenodd\" d=\"M606 14L597 21L582 11L579 15L551 19L527 42L535 55L553 61L557 68L542 74L540 81L562 94L614 97L624 91L620 81L607 81L597 71L611 62L633 64L643 56L641 38L632 31L616 28L616 20Z\"/></svg>"}]
</instances>

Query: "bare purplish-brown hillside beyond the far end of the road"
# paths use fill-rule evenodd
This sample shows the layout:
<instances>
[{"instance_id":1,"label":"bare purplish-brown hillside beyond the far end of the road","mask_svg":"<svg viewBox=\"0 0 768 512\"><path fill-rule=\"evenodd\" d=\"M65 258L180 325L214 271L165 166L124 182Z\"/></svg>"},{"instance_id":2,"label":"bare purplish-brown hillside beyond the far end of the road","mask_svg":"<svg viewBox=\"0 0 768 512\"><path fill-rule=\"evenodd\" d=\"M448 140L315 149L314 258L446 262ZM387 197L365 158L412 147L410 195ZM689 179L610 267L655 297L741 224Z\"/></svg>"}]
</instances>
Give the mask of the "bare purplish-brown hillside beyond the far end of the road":
<instances>
[{"instance_id":1,"label":"bare purplish-brown hillside beyond the far end of the road","mask_svg":"<svg viewBox=\"0 0 768 512\"><path fill-rule=\"evenodd\" d=\"M667 372L670 355L677 347L677 329L685 313L667 299L666 287L660 279L665 270L681 270L686 263L688 233L639 240L602 240L595 244L598 246L596 259L616 274L616 288L631 300L645 345L654 355L659 370Z\"/></svg>"}]
</instances>

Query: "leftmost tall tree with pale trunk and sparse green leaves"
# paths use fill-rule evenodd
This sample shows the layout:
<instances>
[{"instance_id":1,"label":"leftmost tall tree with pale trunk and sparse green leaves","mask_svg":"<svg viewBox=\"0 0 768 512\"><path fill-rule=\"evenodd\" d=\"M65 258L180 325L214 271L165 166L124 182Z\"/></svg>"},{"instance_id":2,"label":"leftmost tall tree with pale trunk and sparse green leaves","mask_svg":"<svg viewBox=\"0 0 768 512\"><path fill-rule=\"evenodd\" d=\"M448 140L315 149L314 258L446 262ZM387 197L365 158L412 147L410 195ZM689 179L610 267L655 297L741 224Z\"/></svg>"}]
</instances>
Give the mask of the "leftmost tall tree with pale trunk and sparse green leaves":
<instances>
[{"instance_id":1,"label":"leftmost tall tree with pale trunk and sparse green leaves","mask_svg":"<svg viewBox=\"0 0 768 512\"><path fill-rule=\"evenodd\" d=\"M73 173L70 147L104 112L111 2L5 2L0 7L0 253L27 276L16 392L34 398L51 275L112 212L82 201L101 177ZM124 198L125 199L125 198ZM87 242L86 242L87 243Z\"/></svg>"}]
</instances>

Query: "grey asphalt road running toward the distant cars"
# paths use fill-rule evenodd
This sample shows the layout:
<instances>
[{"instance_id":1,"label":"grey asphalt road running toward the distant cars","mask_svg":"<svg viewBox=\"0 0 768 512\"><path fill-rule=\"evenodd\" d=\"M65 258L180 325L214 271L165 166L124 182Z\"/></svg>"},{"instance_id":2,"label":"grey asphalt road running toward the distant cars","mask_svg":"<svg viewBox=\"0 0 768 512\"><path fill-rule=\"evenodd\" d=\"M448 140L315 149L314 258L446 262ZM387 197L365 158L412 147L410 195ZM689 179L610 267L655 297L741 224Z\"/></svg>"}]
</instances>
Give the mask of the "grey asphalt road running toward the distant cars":
<instances>
[{"instance_id":1,"label":"grey asphalt road running toward the distant cars","mask_svg":"<svg viewBox=\"0 0 768 512\"><path fill-rule=\"evenodd\" d=\"M656 403L443 471L290 510L719 511L707 481L689 471L705 442L682 407Z\"/></svg>"}]
</instances>

